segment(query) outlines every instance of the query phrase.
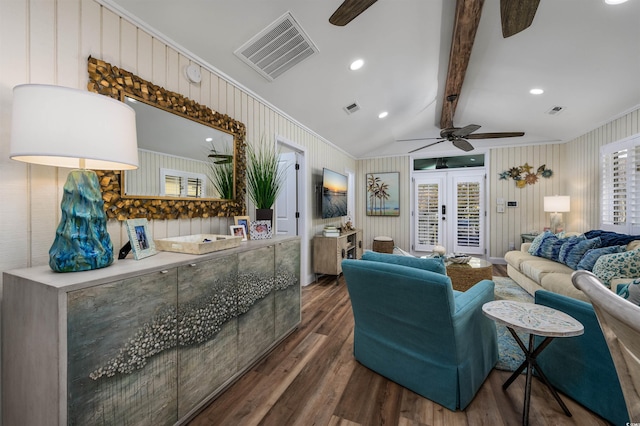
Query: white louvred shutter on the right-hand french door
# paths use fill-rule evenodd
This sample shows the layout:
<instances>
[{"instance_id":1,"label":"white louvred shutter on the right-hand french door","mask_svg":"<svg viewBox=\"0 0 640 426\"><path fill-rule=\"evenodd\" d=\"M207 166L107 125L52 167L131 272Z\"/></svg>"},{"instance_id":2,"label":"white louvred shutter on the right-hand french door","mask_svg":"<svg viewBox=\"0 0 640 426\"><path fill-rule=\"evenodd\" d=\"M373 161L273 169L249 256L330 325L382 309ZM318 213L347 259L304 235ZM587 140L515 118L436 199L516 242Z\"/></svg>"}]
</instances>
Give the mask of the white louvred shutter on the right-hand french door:
<instances>
[{"instance_id":1,"label":"white louvred shutter on the right-hand french door","mask_svg":"<svg viewBox=\"0 0 640 426\"><path fill-rule=\"evenodd\" d=\"M482 253L482 229L484 208L483 176L454 178L455 184L455 231L454 251L462 253Z\"/></svg>"}]
</instances>

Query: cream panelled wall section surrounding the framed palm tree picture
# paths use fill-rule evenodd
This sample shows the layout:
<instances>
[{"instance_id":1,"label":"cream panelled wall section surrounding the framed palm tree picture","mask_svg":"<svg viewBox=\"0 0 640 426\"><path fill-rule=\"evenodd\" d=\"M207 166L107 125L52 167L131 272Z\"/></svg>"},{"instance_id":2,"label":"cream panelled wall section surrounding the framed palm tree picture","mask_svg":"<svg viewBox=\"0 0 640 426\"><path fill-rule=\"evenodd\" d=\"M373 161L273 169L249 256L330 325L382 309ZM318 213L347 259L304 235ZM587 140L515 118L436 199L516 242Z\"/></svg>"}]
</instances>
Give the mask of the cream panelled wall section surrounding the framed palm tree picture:
<instances>
[{"instance_id":1,"label":"cream panelled wall section surrounding the framed palm tree picture","mask_svg":"<svg viewBox=\"0 0 640 426\"><path fill-rule=\"evenodd\" d=\"M367 173L400 172L400 216L366 215ZM359 160L356 170L356 226L363 230L364 248L371 249L378 236L393 238L397 247L411 250L411 164L410 157Z\"/></svg>"}]
</instances>

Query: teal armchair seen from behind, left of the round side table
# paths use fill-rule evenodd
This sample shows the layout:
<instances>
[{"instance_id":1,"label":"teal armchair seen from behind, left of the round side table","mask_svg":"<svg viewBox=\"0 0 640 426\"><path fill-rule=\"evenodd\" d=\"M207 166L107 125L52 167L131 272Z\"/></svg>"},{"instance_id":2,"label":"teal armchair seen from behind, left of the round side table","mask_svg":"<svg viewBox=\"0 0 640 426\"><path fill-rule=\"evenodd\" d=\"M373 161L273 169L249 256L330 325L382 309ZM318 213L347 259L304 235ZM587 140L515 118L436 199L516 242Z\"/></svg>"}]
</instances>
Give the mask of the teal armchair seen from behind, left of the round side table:
<instances>
[{"instance_id":1,"label":"teal armchair seen from behind, left of the round side table","mask_svg":"<svg viewBox=\"0 0 640 426\"><path fill-rule=\"evenodd\" d=\"M381 253L363 259L342 261L356 360L450 410L464 410L498 360L495 324L482 314L493 300L493 281L463 293L429 270L444 271L441 260Z\"/></svg>"}]
</instances>

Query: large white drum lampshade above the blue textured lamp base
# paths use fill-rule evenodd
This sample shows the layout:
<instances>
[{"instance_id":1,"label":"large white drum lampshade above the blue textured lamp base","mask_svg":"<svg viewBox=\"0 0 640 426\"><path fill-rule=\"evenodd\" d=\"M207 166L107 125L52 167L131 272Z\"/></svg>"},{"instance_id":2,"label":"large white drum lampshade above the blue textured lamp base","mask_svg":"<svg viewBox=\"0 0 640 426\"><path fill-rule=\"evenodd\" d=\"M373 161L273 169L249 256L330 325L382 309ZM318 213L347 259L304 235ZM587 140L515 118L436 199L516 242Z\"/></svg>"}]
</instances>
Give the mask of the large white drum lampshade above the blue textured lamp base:
<instances>
[{"instance_id":1,"label":"large white drum lampshade above the blue textured lamp base","mask_svg":"<svg viewBox=\"0 0 640 426\"><path fill-rule=\"evenodd\" d=\"M84 90L16 86L9 157L57 167L135 169L135 111L124 102Z\"/></svg>"}]
</instances>

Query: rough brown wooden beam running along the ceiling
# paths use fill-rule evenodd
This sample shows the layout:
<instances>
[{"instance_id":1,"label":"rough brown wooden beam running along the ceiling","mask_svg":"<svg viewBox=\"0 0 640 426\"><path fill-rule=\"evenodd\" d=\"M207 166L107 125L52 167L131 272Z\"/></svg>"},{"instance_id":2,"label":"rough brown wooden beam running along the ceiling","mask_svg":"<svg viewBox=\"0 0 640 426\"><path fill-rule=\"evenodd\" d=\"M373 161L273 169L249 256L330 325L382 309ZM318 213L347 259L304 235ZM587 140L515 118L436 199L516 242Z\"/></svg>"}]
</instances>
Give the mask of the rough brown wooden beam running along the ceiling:
<instances>
[{"instance_id":1,"label":"rough brown wooden beam running along the ceiling","mask_svg":"<svg viewBox=\"0 0 640 426\"><path fill-rule=\"evenodd\" d=\"M440 128L453 127L453 116L458 105L464 75L467 72L471 48L480 23L480 14L484 0L457 0L453 37L449 52L449 68L442 101Z\"/></svg>"}]
</instances>

